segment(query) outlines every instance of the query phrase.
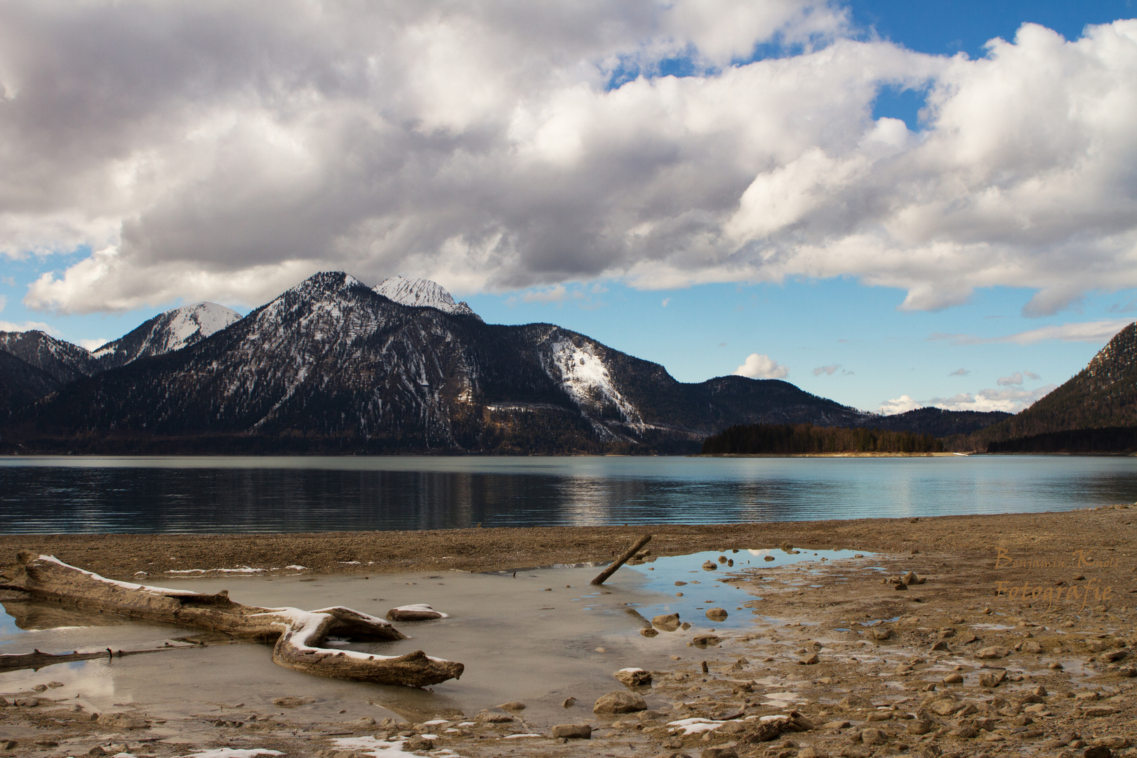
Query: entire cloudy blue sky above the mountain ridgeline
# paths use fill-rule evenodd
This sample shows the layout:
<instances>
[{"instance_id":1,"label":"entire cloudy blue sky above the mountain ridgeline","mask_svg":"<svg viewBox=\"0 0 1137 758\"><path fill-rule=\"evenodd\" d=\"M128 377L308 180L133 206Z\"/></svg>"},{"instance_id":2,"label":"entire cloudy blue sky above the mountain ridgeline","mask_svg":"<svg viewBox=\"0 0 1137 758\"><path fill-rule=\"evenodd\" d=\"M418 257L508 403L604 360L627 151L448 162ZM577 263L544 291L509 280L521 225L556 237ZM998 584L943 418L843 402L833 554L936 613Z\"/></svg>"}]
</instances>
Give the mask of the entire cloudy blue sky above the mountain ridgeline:
<instances>
[{"instance_id":1,"label":"entire cloudy blue sky above the mountain ridgeline","mask_svg":"<svg viewBox=\"0 0 1137 758\"><path fill-rule=\"evenodd\" d=\"M0 5L0 330L318 270L1016 411L1137 317L1134 0Z\"/></svg>"}]
</instances>

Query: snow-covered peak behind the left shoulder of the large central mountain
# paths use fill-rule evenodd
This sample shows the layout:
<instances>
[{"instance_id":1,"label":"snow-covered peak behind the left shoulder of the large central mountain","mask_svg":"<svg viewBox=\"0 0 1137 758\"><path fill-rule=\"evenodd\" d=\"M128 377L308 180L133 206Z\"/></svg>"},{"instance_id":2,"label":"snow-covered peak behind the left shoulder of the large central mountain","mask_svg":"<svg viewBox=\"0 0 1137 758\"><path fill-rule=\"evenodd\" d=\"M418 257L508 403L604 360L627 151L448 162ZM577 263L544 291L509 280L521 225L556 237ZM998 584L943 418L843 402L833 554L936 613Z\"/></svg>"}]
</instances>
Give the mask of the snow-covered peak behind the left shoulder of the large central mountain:
<instances>
[{"instance_id":1,"label":"snow-covered peak behind the left shoulder of the large central mountain","mask_svg":"<svg viewBox=\"0 0 1137 758\"><path fill-rule=\"evenodd\" d=\"M181 350L240 319L241 314L216 302L183 306L155 316L91 356L103 369L117 368L139 358Z\"/></svg>"}]
</instances>

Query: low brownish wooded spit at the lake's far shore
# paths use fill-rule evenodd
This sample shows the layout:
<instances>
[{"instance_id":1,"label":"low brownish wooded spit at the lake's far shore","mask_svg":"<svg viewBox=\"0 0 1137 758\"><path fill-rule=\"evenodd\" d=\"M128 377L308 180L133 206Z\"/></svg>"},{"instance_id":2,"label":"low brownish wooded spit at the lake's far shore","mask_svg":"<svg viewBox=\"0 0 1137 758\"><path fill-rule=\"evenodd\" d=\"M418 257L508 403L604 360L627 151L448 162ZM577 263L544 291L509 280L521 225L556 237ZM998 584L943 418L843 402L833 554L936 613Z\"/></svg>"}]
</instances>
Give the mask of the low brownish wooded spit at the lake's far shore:
<instances>
[{"instance_id":1,"label":"low brownish wooded spit at the lake's far shore","mask_svg":"<svg viewBox=\"0 0 1137 758\"><path fill-rule=\"evenodd\" d=\"M740 424L703 441L704 455L943 451L931 434L813 424Z\"/></svg>"}]
</instances>

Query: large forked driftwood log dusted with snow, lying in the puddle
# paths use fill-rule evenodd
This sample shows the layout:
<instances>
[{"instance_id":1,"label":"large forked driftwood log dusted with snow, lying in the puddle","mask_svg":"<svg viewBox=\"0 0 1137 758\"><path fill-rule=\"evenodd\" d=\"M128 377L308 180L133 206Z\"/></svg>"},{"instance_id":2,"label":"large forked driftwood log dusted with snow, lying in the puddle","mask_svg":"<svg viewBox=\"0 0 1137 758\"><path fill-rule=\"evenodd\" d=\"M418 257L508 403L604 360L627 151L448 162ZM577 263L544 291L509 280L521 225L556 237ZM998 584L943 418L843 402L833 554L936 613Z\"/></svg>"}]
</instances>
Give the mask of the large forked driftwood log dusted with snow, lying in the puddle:
<instances>
[{"instance_id":1,"label":"large forked driftwood log dusted with snow, lying in the puddle","mask_svg":"<svg viewBox=\"0 0 1137 758\"><path fill-rule=\"evenodd\" d=\"M462 676L462 664L431 658L422 650L405 656L375 656L319 645L330 636L358 642L404 640L390 622L350 608L257 608L229 599L224 590L204 594L188 590L117 582L85 572L52 556L22 550L17 566L2 577L2 589L35 600L74 603L161 624L224 632L239 638L276 640L273 661L287 668L335 678L426 686Z\"/></svg>"}]
</instances>

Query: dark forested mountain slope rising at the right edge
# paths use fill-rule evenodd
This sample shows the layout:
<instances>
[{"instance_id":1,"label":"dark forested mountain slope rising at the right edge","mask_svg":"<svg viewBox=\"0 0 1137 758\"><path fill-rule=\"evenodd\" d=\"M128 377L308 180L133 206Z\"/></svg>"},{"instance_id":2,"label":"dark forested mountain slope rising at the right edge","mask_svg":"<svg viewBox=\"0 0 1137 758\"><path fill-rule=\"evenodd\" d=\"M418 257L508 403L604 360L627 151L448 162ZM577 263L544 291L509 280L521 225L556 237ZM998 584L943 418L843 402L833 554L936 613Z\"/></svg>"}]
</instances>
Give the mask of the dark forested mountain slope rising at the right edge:
<instances>
[{"instance_id":1,"label":"dark forested mountain slope rising at the right edge","mask_svg":"<svg viewBox=\"0 0 1137 758\"><path fill-rule=\"evenodd\" d=\"M1029 408L949 443L957 450L986 450L991 443L1039 438L1037 445L1004 444L1002 449L1077 450L1082 449L1081 436L1092 445L1097 444L1093 440L1110 439L1081 432L1132 426L1137 426L1137 324L1118 332L1086 368ZM1047 435L1059 436L1047 441Z\"/></svg>"}]
</instances>

